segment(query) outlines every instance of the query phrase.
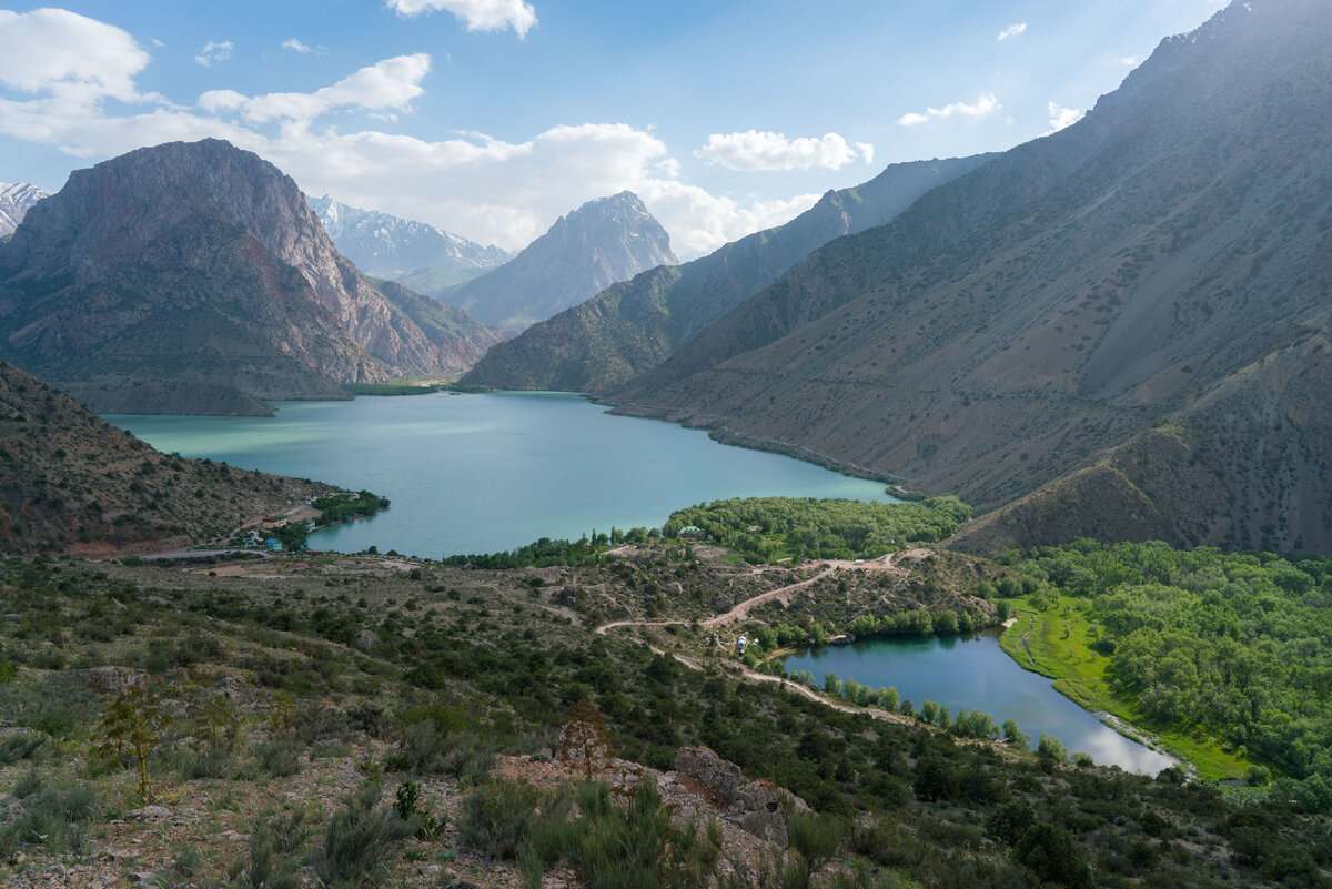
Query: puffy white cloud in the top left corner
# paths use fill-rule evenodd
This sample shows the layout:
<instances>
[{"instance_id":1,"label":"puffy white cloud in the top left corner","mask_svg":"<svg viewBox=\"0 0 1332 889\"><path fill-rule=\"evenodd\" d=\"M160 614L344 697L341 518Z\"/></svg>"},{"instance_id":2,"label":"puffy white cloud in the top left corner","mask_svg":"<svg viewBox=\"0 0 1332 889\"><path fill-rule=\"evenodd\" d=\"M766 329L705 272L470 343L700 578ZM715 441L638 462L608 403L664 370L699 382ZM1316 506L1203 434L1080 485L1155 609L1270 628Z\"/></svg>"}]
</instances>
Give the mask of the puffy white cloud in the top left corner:
<instances>
[{"instance_id":1,"label":"puffy white cloud in the top left corner","mask_svg":"<svg viewBox=\"0 0 1332 889\"><path fill-rule=\"evenodd\" d=\"M127 32L64 9L0 9L0 84L61 102L137 101L148 53Z\"/></svg>"}]
</instances>

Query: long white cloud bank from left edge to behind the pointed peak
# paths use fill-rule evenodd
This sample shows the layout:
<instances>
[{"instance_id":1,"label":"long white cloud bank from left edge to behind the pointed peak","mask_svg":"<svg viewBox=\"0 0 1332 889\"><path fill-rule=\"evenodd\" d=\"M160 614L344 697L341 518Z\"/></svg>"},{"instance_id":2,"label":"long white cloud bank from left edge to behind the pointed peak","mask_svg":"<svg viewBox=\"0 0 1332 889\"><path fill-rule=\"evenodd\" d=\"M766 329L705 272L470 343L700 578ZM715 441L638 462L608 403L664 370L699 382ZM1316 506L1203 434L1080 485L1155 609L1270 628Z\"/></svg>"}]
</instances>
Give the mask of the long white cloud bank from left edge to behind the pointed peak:
<instances>
[{"instance_id":1,"label":"long white cloud bank from left edge to behind the pointed peak","mask_svg":"<svg viewBox=\"0 0 1332 889\"><path fill-rule=\"evenodd\" d=\"M61 21L69 27L40 40L31 20L20 23L28 31L13 40L16 19L24 17L0 13L0 44L33 64L0 59L0 133L76 157L225 138L272 161L308 194L332 194L506 249L525 246L590 198L623 189L643 198L683 258L786 222L818 200L711 194L682 181L681 165L661 138L629 124L551 126L525 141L485 133L432 141L373 129L341 132L321 120L349 109L382 117L408 109L422 92L426 55L388 59L308 93L213 90L189 106L136 92L135 75L149 57L123 31L67 16ZM61 56L63 47L73 51ZM71 92L77 101L68 98ZM149 108L112 112L103 105L107 97ZM866 158L871 152L868 145L847 150Z\"/></svg>"}]
</instances>

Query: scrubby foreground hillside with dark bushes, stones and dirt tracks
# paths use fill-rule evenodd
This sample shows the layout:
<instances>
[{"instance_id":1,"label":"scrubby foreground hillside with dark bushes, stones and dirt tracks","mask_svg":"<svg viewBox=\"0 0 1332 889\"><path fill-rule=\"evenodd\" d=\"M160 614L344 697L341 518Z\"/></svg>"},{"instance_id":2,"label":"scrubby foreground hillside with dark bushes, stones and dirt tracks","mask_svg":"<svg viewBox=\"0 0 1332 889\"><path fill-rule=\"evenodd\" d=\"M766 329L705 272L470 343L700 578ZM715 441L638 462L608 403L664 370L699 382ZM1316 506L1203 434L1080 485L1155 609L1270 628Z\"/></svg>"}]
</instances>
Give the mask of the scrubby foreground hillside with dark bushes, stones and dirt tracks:
<instances>
[{"instance_id":1,"label":"scrubby foreground hillside with dark bushes, stones and dirt tracks","mask_svg":"<svg viewBox=\"0 0 1332 889\"><path fill-rule=\"evenodd\" d=\"M782 885L775 865L817 889L1327 885L1315 783L1229 791L1072 765L990 740L974 715L942 728L938 707L927 720L856 704L874 689L852 683L823 693L747 669L683 622L718 590L763 595L801 570L673 548L517 571L7 560L0 880L461 889L627 873L619 885L686 889ZM956 554L847 568L793 606L842 607L850 586L890 612L984 607L951 590L978 570ZM141 716L144 785L108 743Z\"/></svg>"}]
</instances>

